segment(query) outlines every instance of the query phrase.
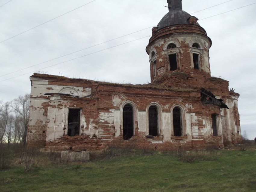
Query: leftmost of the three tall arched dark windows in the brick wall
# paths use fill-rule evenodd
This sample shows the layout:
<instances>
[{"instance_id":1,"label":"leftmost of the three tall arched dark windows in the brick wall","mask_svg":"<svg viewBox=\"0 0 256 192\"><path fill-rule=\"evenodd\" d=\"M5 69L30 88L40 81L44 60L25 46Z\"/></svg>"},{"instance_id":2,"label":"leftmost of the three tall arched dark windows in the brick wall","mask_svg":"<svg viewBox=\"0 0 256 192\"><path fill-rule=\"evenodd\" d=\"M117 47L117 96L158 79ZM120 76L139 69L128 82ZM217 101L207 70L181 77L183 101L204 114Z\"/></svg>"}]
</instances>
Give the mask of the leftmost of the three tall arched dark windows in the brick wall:
<instances>
[{"instance_id":1,"label":"leftmost of the three tall arched dark windows in the brick wall","mask_svg":"<svg viewBox=\"0 0 256 192\"><path fill-rule=\"evenodd\" d=\"M133 107L127 104L123 107L123 139L128 140L133 136Z\"/></svg>"}]
</instances>

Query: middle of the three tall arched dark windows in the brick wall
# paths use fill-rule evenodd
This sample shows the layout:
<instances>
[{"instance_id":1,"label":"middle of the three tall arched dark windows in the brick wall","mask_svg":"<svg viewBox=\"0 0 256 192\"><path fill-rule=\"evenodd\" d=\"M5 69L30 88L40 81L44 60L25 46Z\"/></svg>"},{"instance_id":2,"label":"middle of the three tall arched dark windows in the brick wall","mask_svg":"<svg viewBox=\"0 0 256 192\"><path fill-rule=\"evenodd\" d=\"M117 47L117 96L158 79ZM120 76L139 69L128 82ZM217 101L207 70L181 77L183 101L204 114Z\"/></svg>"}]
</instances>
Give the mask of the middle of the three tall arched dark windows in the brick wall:
<instances>
[{"instance_id":1,"label":"middle of the three tall arched dark windows in the brick wall","mask_svg":"<svg viewBox=\"0 0 256 192\"><path fill-rule=\"evenodd\" d=\"M148 109L148 128L149 135L158 136L158 113L155 106L151 106Z\"/></svg>"}]
</instances>

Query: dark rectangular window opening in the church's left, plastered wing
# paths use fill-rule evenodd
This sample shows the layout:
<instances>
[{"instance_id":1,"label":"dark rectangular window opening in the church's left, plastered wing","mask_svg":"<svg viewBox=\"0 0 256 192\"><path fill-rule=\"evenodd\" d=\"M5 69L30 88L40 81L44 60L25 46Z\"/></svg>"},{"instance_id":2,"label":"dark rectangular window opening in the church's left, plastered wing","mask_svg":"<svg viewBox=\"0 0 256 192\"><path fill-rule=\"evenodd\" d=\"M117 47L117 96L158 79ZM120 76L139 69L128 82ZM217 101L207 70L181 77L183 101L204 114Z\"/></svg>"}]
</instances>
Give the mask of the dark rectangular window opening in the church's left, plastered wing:
<instances>
[{"instance_id":1,"label":"dark rectangular window opening in the church's left, plastered wing","mask_svg":"<svg viewBox=\"0 0 256 192\"><path fill-rule=\"evenodd\" d=\"M79 135L80 130L80 109L68 109L67 135Z\"/></svg>"}]
</instances>

